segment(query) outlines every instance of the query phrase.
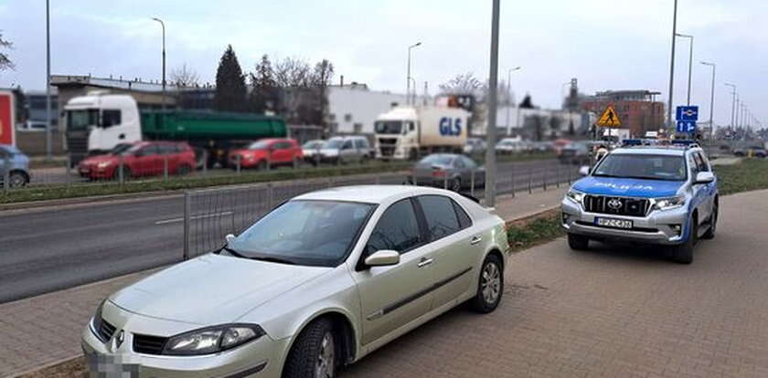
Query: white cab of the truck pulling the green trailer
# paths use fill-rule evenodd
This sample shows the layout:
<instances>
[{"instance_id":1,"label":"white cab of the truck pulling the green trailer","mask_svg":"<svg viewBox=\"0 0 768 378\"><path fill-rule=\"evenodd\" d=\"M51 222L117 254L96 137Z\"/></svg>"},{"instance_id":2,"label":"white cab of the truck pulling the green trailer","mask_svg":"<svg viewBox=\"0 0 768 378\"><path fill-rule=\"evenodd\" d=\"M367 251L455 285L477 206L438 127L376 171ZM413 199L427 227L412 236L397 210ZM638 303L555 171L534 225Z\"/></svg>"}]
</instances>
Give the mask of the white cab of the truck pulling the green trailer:
<instances>
[{"instance_id":1,"label":"white cab of the truck pulling the green trailer","mask_svg":"<svg viewBox=\"0 0 768 378\"><path fill-rule=\"evenodd\" d=\"M139 110L129 95L90 92L69 100L64 112L73 164L109 152L118 144L142 140Z\"/></svg>"}]
</instances>

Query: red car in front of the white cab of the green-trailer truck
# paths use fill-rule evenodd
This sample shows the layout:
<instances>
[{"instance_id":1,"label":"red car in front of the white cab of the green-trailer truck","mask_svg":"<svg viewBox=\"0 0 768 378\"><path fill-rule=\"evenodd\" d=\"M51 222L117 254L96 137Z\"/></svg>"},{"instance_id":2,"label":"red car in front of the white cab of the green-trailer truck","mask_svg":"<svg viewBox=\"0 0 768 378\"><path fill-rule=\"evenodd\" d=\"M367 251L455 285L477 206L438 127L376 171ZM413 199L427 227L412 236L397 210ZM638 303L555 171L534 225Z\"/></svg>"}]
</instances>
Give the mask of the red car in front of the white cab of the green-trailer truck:
<instances>
[{"instance_id":1,"label":"red car in front of the white cab of the green-trailer truck","mask_svg":"<svg viewBox=\"0 0 768 378\"><path fill-rule=\"evenodd\" d=\"M197 166L195 152L185 142L135 142L83 160L78 171L91 180L115 179L121 160L125 178L164 174L166 160L168 174L187 174Z\"/></svg>"}]
</instances>

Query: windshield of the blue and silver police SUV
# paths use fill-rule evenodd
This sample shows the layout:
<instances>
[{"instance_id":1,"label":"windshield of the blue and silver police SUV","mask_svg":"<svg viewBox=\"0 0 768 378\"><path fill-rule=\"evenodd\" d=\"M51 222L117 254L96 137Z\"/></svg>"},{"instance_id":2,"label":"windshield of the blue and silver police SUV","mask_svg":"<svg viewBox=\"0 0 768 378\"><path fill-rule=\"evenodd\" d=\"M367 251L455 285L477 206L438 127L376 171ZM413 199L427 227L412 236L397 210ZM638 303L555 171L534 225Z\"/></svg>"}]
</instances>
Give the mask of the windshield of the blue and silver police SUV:
<instances>
[{"instance_id":1,"label":"windshield of the blue and silver police SUV","mask_svg":"<svg viewBox=\"0 0 768 378\"><path fill-rule=\"evenodd\" d=\"M620 153L605 156L592 175L665 181L687 178L683 156Z\"/></svg>"}]
</instances>

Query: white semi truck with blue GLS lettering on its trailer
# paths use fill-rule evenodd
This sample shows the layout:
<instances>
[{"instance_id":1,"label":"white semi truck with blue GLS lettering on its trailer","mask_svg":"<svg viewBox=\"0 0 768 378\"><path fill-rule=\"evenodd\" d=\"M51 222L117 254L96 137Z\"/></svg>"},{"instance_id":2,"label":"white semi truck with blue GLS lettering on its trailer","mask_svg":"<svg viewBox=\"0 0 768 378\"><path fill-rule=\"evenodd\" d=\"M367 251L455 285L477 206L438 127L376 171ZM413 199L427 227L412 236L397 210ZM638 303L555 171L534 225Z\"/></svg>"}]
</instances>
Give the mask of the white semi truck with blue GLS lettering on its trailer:
<instances>
[{"instance_id":1,"label":"white semi truck with blue GLS lettering on its trailer","mask_svg":"<svg viewBox=\"0 0 768 378\"><path fill-rule=\"evenodd\" d=\"M413 160L432 152L461 153L470 113L443 106L397 107L376 120L376 157Z\"/></svg>"}]
</instances>

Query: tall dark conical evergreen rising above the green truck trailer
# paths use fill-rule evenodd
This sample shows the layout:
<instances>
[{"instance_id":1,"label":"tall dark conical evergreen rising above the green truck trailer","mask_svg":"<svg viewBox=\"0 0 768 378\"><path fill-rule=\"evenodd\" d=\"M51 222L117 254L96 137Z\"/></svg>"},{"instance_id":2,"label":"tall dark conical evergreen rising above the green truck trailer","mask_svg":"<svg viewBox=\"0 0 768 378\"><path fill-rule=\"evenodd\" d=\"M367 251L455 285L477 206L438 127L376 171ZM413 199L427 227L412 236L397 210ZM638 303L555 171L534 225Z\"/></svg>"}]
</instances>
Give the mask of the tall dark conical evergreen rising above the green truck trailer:
<instances>
[{"instance_id":1,"label":"tall dark conical evergreen rising above the green truck trailer","mask_svg":"<svg viewBox=\"0 0 768 378\"><path fill-rule=\"evenodd\" d=\"M213 107L220 111L246 111L248 102L246 99L245 77L240 69L235 50L229 45L219 61L219 69L216 71L216 94L213 98Z\"/></svg>"}]
</instances>

